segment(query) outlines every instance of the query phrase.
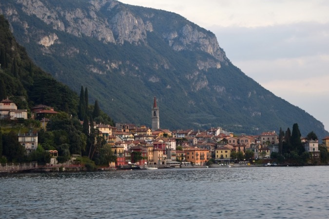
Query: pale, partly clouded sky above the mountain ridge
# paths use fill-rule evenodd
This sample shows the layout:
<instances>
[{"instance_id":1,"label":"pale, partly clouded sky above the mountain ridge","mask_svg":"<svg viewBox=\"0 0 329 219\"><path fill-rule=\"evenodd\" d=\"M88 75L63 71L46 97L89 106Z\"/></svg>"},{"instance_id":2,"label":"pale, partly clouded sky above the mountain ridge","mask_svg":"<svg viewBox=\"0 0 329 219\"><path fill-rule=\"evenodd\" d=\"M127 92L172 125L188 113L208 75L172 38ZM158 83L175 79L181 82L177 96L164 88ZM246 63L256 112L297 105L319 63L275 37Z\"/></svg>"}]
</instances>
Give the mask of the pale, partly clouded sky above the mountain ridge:
<instances>
[{"instance_id":1,"label":"pale, partly clouded sky above the mountain ridge","mask_svg":"<svg viewBox=\"0 0 329 219\"><path fill-rule=\"evenodd\" d=\"M233 65L329 130L328 0L119 1L174 12L213 32Z\"/></svg>"}]
</instances>

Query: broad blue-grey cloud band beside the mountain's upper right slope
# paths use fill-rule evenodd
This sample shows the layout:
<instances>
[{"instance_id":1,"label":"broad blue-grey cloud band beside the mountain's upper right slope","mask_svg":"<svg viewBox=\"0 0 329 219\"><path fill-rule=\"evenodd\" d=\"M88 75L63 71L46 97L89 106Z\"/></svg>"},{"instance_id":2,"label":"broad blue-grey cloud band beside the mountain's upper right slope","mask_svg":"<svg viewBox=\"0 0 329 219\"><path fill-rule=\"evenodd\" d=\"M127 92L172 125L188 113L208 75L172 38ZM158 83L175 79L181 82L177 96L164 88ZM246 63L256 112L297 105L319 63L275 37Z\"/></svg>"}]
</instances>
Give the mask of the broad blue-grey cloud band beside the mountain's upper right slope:
<instances>
[{"instance_id":1,"label":"broad blue-grey cloud band beside the mountain's upper right slope","mask_svg":"<svg viewBox=\"0 0 329 219\"><path fill-rule=\"evenodd\" d=\"M235 61L329 54L329 23L302 22L268 27L209 28Z\"/></svg>"}]
</instances>

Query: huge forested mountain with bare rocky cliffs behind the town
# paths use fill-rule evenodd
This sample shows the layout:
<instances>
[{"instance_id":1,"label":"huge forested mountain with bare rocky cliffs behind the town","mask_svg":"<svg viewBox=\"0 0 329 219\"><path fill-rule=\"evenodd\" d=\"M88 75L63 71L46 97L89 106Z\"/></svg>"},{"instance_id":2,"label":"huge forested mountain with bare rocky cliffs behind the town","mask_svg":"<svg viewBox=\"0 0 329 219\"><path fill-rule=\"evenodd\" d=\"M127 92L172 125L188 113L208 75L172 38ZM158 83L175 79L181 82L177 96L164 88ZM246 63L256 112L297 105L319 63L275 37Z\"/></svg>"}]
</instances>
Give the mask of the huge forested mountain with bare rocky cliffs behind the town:
<instances>
[{"instance_id":1,"label":"huge forested mountain with bare rocky cliffs behind the town","mask_svg":"<svg viewBox=\"0 0 329 219\"><path fill-rule=\"evenodd\" d=\"M2 0L0 13L37 65L74 91L87 87L116 122L151 126L156 96L160 128L256 134L298 123L304 136L328 135L180 15L116 0Z\"/></svg>"}]
</instances>

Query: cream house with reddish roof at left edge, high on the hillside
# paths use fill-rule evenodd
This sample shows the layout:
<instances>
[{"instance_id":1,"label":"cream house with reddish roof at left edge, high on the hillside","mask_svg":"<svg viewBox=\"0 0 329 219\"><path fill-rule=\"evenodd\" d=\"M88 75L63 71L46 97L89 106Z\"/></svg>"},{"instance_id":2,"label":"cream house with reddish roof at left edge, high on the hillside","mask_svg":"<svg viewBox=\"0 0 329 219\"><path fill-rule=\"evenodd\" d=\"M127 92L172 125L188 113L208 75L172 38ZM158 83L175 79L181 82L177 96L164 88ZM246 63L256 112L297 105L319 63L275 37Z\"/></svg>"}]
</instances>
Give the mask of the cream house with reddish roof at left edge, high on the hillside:
<instances>
[{"instance_id":1,"label":"cream house with reddish roof at left edge, high on the hillside","mask_svg":"<svg viewBox=\"0 0 329 219\"><path fill-rule=\"evenodd\" d=\"M16 104L7 99L0 102L0 119L27 119L27 110L18 110Z\"/></svg>"}]
</instances>

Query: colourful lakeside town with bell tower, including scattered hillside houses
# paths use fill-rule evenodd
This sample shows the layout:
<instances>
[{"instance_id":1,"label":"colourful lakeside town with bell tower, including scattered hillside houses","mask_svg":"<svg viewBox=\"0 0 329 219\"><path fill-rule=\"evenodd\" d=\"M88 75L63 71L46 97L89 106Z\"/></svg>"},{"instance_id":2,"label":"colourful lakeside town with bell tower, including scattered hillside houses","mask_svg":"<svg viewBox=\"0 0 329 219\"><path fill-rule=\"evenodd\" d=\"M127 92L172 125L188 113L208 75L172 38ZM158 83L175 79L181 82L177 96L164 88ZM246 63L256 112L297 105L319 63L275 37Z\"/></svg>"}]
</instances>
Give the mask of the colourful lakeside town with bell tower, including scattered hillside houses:
<instances>
[{"instance_id":1,"label":"colourful lakeside town with bell tower, including scattered hillside houses","mask_svg":"<svg viewBox=\"0 0 329 219\"><path fill-rule=\"evenodd\" d=\"M30 110L32 117L40 121L40 128L45 132L51 118L58 114L54 108L45 105L38 105ZM285 140L276 131L262 132L259 135L235 135L220 127L207 130L163 129L160 128L160 110L155 97L151 113L151 128L122 123L116 123L115 127L96 122L89 123L88 129L97 130L97 139L93 144L97 144L97 141L99 143L101 139L103 145L110 146L115 157L109 160L105 168L123 169L127 166L173 168L182 165L201 167L210 164L231 166L237 162L250 165L257 161L261 161L258 164L267 164L272 159L282 157L283 154L282 144ZM1 120L25 120L27 110L18 110L16 104L7 98L0 102L0 115ZM80 121L80 124L82 126L83 121ZM18 142L24 147L26 154L37 150L38 137L38 132L32 130L28 133L19 131L17 134ZM326 147L328 151L329 136L322 140L323 143L320 145ZM308 154L307 162L320 164L318 140L301 137L300 141L304 147L303 151ZM97 150L96 146L95 150ZM57 159L60 155L58 150L47 150L47 153L50 156L50 161L46 164L48 167L60 165ZM77 161L80 156L81 154L71 154L70 164L74 164L72 161ZM36 164L33 165L35 167ZM80 167L80 163L77 165ZM4 166L2 164L1 168L5 168Z\"/></svg>"}]
</instances>

